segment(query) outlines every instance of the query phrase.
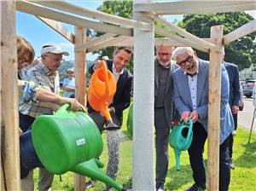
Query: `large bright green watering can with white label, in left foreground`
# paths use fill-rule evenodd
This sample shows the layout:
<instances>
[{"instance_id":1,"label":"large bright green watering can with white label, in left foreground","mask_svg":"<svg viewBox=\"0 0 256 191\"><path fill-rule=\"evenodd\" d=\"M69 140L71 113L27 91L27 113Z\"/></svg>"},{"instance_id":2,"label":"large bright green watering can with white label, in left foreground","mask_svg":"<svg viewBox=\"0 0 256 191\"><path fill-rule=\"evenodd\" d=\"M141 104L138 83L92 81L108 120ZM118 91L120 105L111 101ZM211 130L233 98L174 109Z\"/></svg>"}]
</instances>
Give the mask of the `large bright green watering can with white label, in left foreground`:
<instances>
[{"instance_id":1,"label":"large bright green watering can with white label, in left foreground","mask_svg":"<svg viewBox=\"0 0 256 191\"><path fill-rule=\"evenodd\" d=\"M42 115L32 124L32 142L44 167L61 175L73 171L125 190L99 168L102 136L96 124L83 112L69 112L65 104L55 115Z\"/></svg>"}]
</instances>

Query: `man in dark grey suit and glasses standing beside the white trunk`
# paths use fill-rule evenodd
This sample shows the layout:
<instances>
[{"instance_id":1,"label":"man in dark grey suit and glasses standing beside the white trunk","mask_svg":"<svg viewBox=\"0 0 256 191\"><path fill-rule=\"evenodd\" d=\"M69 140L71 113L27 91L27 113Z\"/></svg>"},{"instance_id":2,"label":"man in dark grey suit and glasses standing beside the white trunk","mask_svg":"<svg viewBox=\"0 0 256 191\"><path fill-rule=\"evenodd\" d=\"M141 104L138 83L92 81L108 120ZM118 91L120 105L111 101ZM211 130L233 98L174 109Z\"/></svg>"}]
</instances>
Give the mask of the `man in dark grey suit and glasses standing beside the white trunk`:
<instances>
[{"instance_id":1,"label":"man in dark grey suit and glasses standing beside the white trunk","mask_svg":"<svg viewBox=\"0 0 256 191\"><path fill-rule=\"evenodd\" d=\"M172 47L156 47L154 60L154 127L156 147L156 190L165 190L168 170L168 136L172 125L172 72L177 68L171 62Z\"/></svg>"}]
</instances>

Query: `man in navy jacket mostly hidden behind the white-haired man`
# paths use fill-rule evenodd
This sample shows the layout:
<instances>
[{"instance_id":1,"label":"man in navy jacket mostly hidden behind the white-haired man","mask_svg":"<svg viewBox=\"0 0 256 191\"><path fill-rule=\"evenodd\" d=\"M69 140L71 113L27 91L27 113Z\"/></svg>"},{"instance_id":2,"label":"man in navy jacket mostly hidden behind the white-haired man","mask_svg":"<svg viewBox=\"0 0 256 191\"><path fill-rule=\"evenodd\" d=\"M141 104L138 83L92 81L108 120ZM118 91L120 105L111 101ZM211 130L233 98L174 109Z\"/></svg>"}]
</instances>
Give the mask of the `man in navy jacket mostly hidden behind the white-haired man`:
<instances>
[{"instance_id":1,"label":"man in navy jacket mostly hidden behind the white-haired man","mask_svg":"<svg viewBox=\"0 0 256 191\"><path fill-rule=\"evenodd\" d=\"M235 64L224 61L224 56L225 56L225 52L223 49L223 64L229 74L229 79L230 79L230 101L229 102L230 102L230 108L232 111L234 125L235 125L232 134L230 134L230 168L235 169L235 164L233 164L232 162L233 142L234 142L234 136L236 135L237 113L239 111L239 101L242 95L241 95L238 67Z\"/></svg>"}]
</instances>

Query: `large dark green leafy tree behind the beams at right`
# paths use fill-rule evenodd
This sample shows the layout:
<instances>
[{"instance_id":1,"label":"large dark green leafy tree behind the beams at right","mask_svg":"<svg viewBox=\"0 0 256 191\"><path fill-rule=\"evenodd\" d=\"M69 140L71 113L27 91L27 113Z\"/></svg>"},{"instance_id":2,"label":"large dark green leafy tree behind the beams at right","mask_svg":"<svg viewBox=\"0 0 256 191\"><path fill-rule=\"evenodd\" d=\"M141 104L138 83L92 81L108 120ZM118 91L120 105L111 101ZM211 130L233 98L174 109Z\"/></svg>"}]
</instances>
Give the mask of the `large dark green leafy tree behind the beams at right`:
<instances>
[{"instance_id":1,"label":"large dark green leafy tree behind the beams at right","mask_svg":"<svg viewBox=\"0 0 256 191\"><path fill-rule=\"evenodd\" d=\"M224 14L190 14L184 16L178 26L199 38L210 38L211 26L224 26L224 35L236 28L247 24L253 17L244 12L224 13ZM233 41L225 46L225 61L235 63L239 70L250 67L256 63L256 32L246 37ZM254 40L254 42L253 42ZM197 52L201 59L209 60L209 55L201 51Z\"/></svg>"}]
</instances>

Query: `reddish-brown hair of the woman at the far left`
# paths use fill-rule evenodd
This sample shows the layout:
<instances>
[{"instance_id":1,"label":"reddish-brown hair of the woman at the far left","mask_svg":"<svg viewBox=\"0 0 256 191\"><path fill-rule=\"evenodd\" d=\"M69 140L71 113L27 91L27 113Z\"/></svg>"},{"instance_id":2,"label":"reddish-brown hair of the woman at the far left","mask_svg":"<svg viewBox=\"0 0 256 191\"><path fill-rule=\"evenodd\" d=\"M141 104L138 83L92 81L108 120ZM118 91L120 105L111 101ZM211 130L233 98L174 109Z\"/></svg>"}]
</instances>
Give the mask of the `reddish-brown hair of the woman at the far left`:
<instances>
[{"instance_id":1,"label":"reddish-brown hair of the woman at the far left","mask_svg":"<svg viewBox=\"0 0 256 191\"><path fill-rule=\"evenodd\" d=\"M30 56L29 63L31 64L32 61L34 61L35 50L33 49L31 43L26 41L25 38L17 36L17 55L18 55L18 58L21 55L25 54L25 53L30 53L31 56Z\"/></svg>"}]
</instances>

